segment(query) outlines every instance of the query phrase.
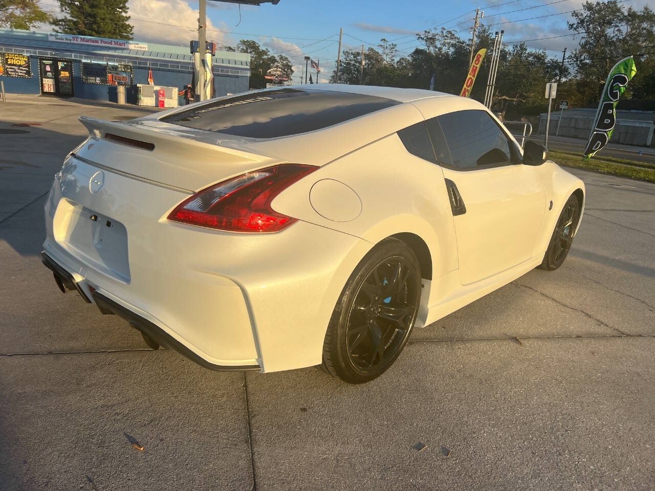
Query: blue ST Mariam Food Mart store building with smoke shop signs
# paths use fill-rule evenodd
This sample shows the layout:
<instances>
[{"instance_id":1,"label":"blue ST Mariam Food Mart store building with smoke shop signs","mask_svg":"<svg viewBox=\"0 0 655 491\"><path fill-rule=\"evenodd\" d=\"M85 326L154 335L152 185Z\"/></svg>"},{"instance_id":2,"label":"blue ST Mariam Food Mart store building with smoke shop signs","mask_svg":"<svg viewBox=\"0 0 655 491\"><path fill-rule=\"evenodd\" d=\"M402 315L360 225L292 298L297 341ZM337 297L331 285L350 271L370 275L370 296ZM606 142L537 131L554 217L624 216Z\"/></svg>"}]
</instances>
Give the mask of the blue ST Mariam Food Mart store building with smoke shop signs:
<instances>
[{"instance_id":1,"label":"blue ST Mariam Food Mart store building with smoke shop signs","mask_svg":"<svg viewBox=\"0 0 655 491\"><path fill-rule=\"evenodd\" d=\"M138 103L138 85L166 88L166 97L191 84L189 46L0 29L0 81L5 92L117 101L125 85ZM212 57L216 96L248 90L250 55L217 51ZM184 100L178 96L178 103Z\"/></svg>"}]
</instances>

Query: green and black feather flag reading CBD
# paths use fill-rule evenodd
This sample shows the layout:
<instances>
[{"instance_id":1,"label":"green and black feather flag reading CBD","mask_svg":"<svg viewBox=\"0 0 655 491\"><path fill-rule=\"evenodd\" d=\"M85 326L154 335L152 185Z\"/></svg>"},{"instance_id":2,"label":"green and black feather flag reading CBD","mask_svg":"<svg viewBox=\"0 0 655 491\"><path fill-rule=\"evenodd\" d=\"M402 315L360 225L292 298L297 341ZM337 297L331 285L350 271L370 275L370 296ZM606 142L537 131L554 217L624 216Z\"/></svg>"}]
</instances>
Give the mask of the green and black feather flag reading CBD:
<instances>
[{"instance_id":1,"label":"green and black feather flag reading CBD","mask_svg":"<svg viewBox=\"0 0 655 491\"><path fill-rule=\"evenodd\" d=\"M597 151L605 147L610 140L616 123L618 98L626 91L627 82L632 80L635 73L637 73L635 60L632 59L632 56L628 56L614 65L607 76L607 82L605 82L605 88L603 88L603 97L598 105L591 135L589 135L587 148L584 151L584 160L589 160Z\"/></svg>"}]
</instances>

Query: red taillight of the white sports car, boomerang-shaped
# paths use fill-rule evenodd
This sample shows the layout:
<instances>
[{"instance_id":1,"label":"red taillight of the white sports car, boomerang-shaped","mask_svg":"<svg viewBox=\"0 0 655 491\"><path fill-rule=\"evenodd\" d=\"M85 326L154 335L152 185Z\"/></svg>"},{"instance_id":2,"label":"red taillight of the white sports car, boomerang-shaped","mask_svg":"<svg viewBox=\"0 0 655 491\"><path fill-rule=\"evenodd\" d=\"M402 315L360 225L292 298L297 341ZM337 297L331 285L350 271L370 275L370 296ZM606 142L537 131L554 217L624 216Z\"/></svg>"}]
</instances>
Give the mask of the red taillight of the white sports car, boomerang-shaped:
<instances>
[{"instance_id":1,"label":"red taillight of the white sports car, boomerang-shaped","mask_svg":"<svg viewBox=\"0 0 655 491\"><path fill-rule=\"evenodd\" d=\"M277 232L295 219L274 211L273 198L316 169L280 164L232 177L184 200L168 219L233 232Z\"/></svg>"}]
</instances>

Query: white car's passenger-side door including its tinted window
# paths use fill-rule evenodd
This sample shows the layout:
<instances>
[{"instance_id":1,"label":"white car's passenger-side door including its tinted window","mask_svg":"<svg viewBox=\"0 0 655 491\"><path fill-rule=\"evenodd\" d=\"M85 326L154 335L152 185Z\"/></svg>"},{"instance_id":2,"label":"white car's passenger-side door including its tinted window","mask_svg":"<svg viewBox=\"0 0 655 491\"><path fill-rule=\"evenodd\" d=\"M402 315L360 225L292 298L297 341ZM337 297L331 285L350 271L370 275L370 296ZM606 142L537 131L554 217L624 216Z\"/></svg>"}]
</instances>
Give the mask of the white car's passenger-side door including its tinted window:
<instances>
[{"instance_id":1,"label":"white car's passenger-side door including its tinted window","mask_svg":"<svg viewBox=\"0 0 655 491\"><path fill-rule=\"evenodd\" d=\"M546 208L535 168L519 163L515 143L487 111L453 111L426 123L452 183L462 284L530 259Z\"/></svg>"}]
</instances>

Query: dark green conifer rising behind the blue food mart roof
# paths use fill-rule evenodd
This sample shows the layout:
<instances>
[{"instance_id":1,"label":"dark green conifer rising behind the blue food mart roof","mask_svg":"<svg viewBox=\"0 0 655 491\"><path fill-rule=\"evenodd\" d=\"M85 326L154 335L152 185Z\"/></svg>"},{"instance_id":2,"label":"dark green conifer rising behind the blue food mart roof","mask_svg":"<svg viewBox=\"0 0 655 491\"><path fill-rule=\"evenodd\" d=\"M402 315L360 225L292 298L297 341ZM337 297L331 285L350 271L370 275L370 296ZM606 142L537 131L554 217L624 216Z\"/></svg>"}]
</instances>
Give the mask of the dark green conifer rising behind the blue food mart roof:
<instances>
[{"instance_id":1,"label":"dark green conifer rising behind the blue food mart roof","mask_svg":"<svg viewBox=\"0 0 655 491\"><path fill-rule=\"evenodd\" d=\"M57 32L132 39L127 0L59 0L65 17L55 19Z\"/></svg>"}]
</instances>

